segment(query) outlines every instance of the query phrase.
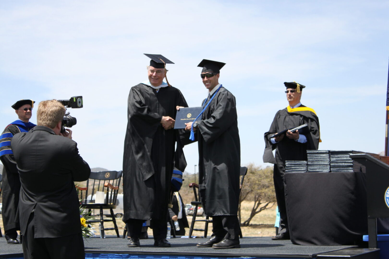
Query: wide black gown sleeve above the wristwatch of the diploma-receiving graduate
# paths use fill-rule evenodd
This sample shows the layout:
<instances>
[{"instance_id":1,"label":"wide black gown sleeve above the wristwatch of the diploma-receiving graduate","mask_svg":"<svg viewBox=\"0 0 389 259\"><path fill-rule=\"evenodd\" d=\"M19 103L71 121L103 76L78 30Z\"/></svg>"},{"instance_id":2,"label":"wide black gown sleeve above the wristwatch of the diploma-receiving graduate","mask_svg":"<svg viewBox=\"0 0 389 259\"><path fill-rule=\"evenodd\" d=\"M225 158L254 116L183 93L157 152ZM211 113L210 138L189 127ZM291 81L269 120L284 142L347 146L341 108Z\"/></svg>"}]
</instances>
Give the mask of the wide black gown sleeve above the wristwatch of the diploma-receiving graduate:
<instances>
[{"instance_id":1,"label":"wide black gown sleeve above the wristwatch of the diploma-receiving graduate","mask_svg":"<svg viewBox=\"0 0 389 259\"><path fill-rule=\"evenodd\" d=\"M210 118L198 121L198 130L206 143L217 139L237 120L235 97L230 92L220 91L216 101L216 108Z\"/></svg>"}]
</instances>

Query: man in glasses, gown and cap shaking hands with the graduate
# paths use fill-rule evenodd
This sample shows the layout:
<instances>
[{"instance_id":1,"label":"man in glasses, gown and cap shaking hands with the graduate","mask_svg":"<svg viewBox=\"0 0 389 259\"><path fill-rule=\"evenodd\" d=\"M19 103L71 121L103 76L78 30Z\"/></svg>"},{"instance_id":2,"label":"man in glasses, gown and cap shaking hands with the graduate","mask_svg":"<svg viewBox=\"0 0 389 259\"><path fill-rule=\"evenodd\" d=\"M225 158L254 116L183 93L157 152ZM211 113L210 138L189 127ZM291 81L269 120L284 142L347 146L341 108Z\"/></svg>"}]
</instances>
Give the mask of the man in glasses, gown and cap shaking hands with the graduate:
<instances>
[{"instance_id":1,"label":"man in glasses, gown and cap shaking hands with the graduate","mask_svg":"<svg viewBox=\"0 0 389 259\"><path fill-rule=\"evenodd\" d=\"M161 55L151 58L148 80L131 87L128 96L128 124L123 154L123 221L131 239L128 247L140 246L144 221L152 219L154 245L170 247L166 240L168 201L173 162L184 171L182 146L174 130L176 106L187 107L180 90L163 82L165 63ZM177 151L174 148L177 141Z\"/></svg>"}]
</instances>

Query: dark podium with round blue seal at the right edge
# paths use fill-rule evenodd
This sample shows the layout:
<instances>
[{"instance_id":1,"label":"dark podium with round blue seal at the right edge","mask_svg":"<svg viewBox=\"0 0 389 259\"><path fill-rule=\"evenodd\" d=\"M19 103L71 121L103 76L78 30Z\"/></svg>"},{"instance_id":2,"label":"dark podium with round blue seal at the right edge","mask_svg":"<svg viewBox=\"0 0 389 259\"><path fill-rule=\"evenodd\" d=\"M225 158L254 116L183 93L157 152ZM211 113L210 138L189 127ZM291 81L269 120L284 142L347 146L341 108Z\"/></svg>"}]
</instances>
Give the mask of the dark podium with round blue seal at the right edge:
<instances>
[{"instance_id":1,"label":"dark podium with round blue seal at the right edge","mask_svg":"<svg viewBox=\"0 0 389 259\"><path fill-rule=\"evenodd\" d=\"M389 165L367 154L350 158L366 167L369 248L377 248L377 218L389 217Z\"/></svg>"}]
</instances>

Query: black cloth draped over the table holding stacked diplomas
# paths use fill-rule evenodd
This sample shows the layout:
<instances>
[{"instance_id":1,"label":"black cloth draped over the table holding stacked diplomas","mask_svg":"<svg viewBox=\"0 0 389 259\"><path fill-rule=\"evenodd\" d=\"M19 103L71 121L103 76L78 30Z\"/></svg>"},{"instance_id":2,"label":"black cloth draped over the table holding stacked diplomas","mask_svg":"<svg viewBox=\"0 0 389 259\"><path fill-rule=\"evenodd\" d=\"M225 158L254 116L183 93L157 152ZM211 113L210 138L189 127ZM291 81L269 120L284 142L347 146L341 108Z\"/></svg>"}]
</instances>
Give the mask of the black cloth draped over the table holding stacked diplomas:
<instances>
[{"instance_id":1,"label":"black cloth draped over the table holding stacked diplomas","mask_svg":"<svg viewBox=\"0 0 389 259\"><path fill-rule=\"evenodd\" d=\"M287 173L285 200L294 244L349 245L367 234L363 172Z\"/></svg>"}]
</instances>

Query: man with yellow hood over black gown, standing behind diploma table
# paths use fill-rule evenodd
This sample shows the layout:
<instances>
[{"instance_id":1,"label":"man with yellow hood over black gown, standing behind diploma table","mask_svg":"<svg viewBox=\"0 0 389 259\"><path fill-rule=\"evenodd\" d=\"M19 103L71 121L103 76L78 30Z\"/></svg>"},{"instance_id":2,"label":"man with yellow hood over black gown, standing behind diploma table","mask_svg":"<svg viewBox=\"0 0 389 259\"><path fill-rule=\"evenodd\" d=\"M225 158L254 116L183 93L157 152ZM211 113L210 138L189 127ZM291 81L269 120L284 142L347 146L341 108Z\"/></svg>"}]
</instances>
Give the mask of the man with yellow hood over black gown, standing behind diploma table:
<instances>
[{"instance_id":1,"label":"man with yellow hood over black gown, standing behind diploma table","mask_svg":"<svg viewBox=\"0 0 389 259\"><path fill-rule=\"evenodd\" d=\"M307 150L317 150L320 140L319 118L312 108L300 102L302 89L305 86L296 82L285 82L284 85L289 106L275 114L269 131L265 133L266 148L263 154L263 162L275 164L273 179L280 212L280 226L278 234L272 237L273 240L290 239L284 193L285 161L306 161ZM286 134L270 139L277 132L305 123L308 127L300 129L300 132L299 130L296 132L288 130ZM276 149L275 158L272 153L274 149Z\"/></svg>"}]
</instances>

